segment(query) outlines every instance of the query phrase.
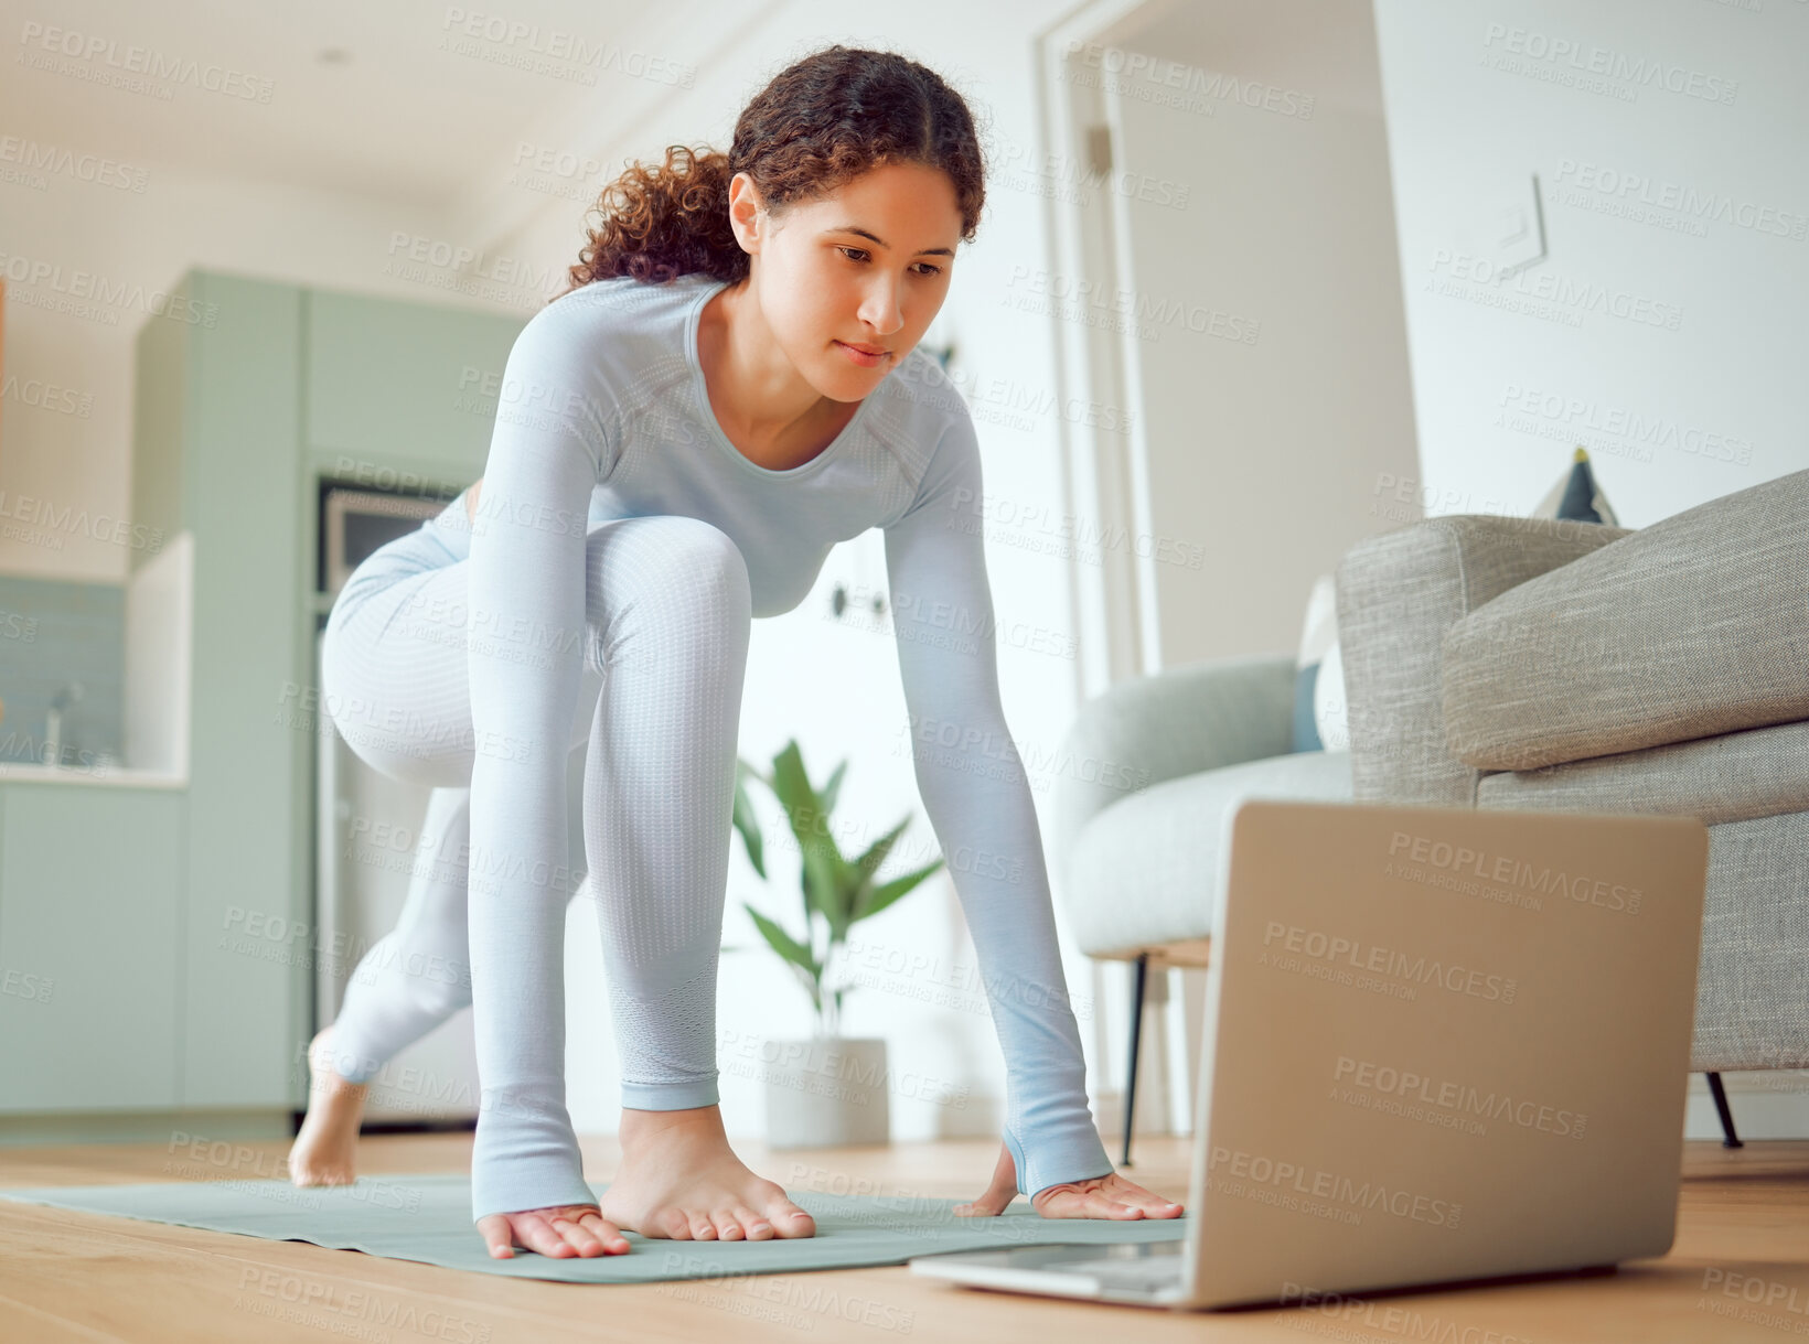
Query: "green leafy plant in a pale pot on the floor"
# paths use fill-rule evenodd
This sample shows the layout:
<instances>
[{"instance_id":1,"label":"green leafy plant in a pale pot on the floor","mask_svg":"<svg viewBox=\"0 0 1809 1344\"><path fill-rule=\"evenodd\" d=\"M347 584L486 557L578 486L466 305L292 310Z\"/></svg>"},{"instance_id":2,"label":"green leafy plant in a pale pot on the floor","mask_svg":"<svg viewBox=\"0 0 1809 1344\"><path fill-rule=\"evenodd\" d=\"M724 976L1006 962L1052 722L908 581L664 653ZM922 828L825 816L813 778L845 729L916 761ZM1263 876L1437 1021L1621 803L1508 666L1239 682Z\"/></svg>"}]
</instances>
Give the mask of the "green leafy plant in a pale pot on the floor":
<instances>
[{"instance_id":1,"label":"green leafy plant in a pale pot on the floor","mask_svg":"<svg viewBox=\"0 0 1809 1344\"><path fill-rule=\"evenodd\" d=\"M888 1141L886 1042L883 1036L841 1035L845 988L836 984L836 971L856 923L877 915L942 866L942 859L935 859L890 881L877 879L881 865L910 825L908 816L857 859L843 857L830 814L847 769L848 763L841 762L827 783L816 789L805 771L803 752L792 740L772 758L771 774L740 762L734 778L734 828L754 872L767 875L760 818L747 794L749 778L760 780L778 800L800 854L801 939L742 903L767 946L796 973L816 1009L816 1031L809 1040L774 1040L762 1047L767 1143L774 1149Z\"/></svg>"}]
</instances>

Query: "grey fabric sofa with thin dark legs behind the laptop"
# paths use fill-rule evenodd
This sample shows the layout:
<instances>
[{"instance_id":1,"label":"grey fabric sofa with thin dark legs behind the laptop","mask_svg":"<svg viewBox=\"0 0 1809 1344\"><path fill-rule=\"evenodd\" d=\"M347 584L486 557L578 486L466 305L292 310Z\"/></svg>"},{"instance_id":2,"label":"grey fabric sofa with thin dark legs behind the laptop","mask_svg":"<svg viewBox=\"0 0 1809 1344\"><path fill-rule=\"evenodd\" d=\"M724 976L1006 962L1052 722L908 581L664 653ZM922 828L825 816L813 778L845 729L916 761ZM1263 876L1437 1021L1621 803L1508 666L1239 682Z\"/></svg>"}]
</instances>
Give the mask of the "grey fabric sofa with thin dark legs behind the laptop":
<instances>
[{"instance_id":1,"label":"grey fabric sofa with thin dark legs behind the laptop","mask_svg":"<svg viewBox=\"0 0 1809 1344\"><path fill-rule=\"evenodd\" d=\"M1641 530L1413 523L1337 566L1350 752L1288 752L1293 660L1223 658L1084 705L1058 897L1082 951L1138 966L1210 941L1237 796L1681 812L1710 827L1691 1069L1809 1067L1809 472ZM1080 772L1076 772L1080 774Z\"/></svg>"}]
</instances>

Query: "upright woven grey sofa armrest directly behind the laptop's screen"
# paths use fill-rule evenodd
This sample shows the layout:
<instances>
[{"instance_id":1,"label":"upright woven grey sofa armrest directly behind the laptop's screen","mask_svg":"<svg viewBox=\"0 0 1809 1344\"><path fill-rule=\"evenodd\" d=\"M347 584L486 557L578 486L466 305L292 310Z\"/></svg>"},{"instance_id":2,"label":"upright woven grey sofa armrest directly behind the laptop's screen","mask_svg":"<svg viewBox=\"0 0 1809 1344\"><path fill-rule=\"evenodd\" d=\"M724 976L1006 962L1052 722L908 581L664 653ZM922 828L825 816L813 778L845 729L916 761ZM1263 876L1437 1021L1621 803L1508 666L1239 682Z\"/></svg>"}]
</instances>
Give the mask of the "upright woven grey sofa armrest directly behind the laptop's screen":
<instances>
[{"instance_id":1,"label":"upright woven grey sofa armrest directly behind the laptop's screen","mask_svg":"<svg viewBox=\"0 0 1809 1344\"><path fill-rule=\"evenodd\" d=\"M1351 546L1335 577L1353 798L1474 807L1476 771L1445 747L1445 629L1628 532L1451 514Z\"/></svg>"}]
</instances>

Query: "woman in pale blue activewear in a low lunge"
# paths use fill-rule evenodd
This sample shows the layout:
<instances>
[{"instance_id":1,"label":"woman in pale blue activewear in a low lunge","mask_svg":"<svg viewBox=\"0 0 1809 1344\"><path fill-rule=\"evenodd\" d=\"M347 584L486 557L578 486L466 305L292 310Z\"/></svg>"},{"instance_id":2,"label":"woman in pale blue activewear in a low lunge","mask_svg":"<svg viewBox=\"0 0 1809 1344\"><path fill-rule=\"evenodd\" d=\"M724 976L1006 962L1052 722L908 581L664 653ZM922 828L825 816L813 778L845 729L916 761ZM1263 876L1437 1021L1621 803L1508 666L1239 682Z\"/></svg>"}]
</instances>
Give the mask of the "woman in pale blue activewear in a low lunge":
<instances>
[{"instance_id":1,"label":"woman in pale blue activewear in a low lunge","mask_svg":"<svg viewBox=\"0 0 1809 1344\"><path fill-rule=\"evenodd\" d=\"M724 1138L716 957L749 620L794 608L829 550L870 526L885 530L937 839L1022 859L1011 877L955 874L1008 1064L993 1181L957 1212L999 1214L1015 1194L1046 1217L1181 1212L1113 1170L1087 1111L1037 818L999 705L982 539L964 526L979 447L914 349L980 203L973 119L932 71L843 47L785 69L727 156L675 147L604 192L572 288L510 351L481 492L376 552L369 582L360 566L347 584L355 602L335 606L329 704L384 724L342 724L353 749L431 783L469 769L472 1216L496 1257L620 1254L622 1228L814 1232ZM431 613L467 608L459 657ZM950 640L952 622L988 637ZM575 740L622 1060L622 1167L601 1207L563 1076ZM436 830L461 832L456 805L436 810ZM445 917L403 915L411 950L459 946L456 886L436 899ZM349 1179L347 1089L459 1000L436 986L423 1008L414 984L411 1008L409 975L376 971L360 966L364 993L311 1051L320 1096L338 1102L297 1140L297 1179Z\"/></svg>"}]
</instances>

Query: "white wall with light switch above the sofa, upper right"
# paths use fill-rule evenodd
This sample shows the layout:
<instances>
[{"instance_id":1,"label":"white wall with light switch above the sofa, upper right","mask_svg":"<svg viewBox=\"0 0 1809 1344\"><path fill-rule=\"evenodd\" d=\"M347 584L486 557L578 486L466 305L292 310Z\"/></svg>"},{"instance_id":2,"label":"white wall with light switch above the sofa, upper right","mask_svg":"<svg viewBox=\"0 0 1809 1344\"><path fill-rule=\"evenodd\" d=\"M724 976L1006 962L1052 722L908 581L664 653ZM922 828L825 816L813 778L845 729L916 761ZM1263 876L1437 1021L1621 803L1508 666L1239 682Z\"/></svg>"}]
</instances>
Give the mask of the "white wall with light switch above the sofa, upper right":
<instances>
[{"instance_id":1,"label":"white wall with light switch above the sofa, upper right","mask_svg":"<svg viewBox=\"0 0 1809 1344\"><path fill-rule=\"evenodd\" d=\"M1809 4L1377 0L1377 29L1425 510L1530 512L1576 443L1624 526L1809 467ZM1494 279L1534 174L1549 255Z\"/></svg>"}]
</instances>

